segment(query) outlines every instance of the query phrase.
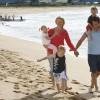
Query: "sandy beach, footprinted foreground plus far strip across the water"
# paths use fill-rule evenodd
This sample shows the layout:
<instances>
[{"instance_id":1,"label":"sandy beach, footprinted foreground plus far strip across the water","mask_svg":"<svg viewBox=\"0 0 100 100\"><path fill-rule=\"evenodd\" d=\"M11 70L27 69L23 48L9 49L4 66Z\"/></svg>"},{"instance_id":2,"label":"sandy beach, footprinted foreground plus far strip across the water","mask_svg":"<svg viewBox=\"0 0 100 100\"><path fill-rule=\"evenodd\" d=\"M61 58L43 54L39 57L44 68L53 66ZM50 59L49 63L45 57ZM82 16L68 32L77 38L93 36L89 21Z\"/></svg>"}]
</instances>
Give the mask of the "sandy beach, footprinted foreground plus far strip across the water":
<instances>
[{"instance_id":1,"label":"sandy beach, footprinted foreground plus far strip across the water","mask_svg":"<svg viewBox=\"0 0 100 100\"><path fill-rule=\"evenodd\" d=\"M59 11L78 8L47 8ZM6 11L5 11L6 9ZM49 9L49 10L48 10ZM81 8L89 9L89 7ZM5 11L5 12L4 12ZM29 12L30 11L30 12ZM44 8L1 8L0 14L12 15L44 12ZM0 35L0 100L99 100L100 93L88 93L90 72L86 58L66 53L68 86L65 94L51 88L48 60L37 59L47 55L41 44ZM98 79L100 83L100 79ZM100 86L100 85L99 85Z\"/></svg>"}]
</instances>

